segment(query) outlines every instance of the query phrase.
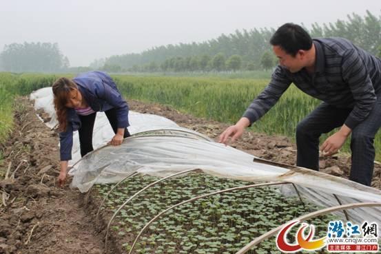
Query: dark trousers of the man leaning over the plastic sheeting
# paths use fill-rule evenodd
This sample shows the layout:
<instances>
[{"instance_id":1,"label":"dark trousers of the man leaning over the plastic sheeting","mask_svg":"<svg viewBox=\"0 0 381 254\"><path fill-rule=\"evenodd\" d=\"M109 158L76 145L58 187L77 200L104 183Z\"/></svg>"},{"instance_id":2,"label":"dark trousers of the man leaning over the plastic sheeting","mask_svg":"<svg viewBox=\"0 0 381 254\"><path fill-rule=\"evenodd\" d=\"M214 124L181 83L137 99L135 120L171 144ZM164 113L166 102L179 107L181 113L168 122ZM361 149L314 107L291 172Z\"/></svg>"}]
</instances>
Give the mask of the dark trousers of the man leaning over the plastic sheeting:
<instances>
[{"instance_id":1,"label":"dark trousers of the man leaning over the plastic sheeting","mask_svg":"<svg viewBox=\"0 0 381 254\"><path fill-rule=\"evenodd\" d=\"M351 108L340 109L322 103L303 119L296 127L296 145L298 148L296 165L319 170L320 135L336 127L341 127L351 111ZM371 185L375 157L373 140L380 127L381 94L377 96L369 116L352 130L350 180L368 186Z\"/></svg>"}]
</instances>

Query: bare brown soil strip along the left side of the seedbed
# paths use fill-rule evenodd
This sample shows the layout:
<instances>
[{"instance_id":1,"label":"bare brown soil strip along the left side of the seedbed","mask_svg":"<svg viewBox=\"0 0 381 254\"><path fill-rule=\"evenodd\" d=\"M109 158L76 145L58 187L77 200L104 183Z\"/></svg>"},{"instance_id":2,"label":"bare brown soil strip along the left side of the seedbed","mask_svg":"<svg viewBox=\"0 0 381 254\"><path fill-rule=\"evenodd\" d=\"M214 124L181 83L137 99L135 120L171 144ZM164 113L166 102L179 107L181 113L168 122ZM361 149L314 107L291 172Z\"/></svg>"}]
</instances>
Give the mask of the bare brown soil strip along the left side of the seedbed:
<instances>
[{"instance_id":1,"label":"bare brown soil strip along the left side of the seedbed","mask_svg":"<svg viewBox=\"0 0 381 254\"><path fill-rule=\"evenodd\" d=\"M103 235L82 207L83 195L55 186L58 136L34 114L25 98L17 104L16 129L6 144L6 167L14 179L1 180L10 194L0 208L0 253L102 253Z\"/></svg>"}]
</instances>

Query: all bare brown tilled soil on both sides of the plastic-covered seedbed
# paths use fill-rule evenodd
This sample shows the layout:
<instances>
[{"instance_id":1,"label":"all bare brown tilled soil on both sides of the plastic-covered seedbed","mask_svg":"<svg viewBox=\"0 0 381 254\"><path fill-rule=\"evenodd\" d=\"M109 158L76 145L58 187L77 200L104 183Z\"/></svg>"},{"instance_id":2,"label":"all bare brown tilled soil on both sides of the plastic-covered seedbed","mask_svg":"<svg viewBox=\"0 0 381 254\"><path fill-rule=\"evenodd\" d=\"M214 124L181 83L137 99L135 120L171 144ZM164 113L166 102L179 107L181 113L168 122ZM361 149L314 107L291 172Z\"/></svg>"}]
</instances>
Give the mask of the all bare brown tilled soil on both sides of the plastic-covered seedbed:
<instances>
[{"instance_id":1,"label":"all bare brown tilled soil on both sides of the plastic-covered seedbed","mask_svg":"<svg viewBox=\"0 0 381 254\"><path fill-rule=\"evenodd\" d=\"M136 112L157 114L178 125L194 129L211 138L227 125L181 114L153 103L129 101ZM5 155L3 170L9 167L8 180L0 180L1 191L9 194L6 207L0 207L0 253L103 253L103 232L93 223L94 211L83 204L77 190L55 186L59 174L58 136L34 114L23 98L17 101L15 131L1 147ZM294 164L296 147L285 137L246 132L232 146L261 158ZM322 171L347 177L349 158L322 159ZM14 179L12 179L14 175ZM381 167L376 165L373 187L381 189ZM0 193L1 195L1 193ZM3 194L6 197L6 194ZM2 200L0 203L3 203Z\"/></svg>"}]
</instances>

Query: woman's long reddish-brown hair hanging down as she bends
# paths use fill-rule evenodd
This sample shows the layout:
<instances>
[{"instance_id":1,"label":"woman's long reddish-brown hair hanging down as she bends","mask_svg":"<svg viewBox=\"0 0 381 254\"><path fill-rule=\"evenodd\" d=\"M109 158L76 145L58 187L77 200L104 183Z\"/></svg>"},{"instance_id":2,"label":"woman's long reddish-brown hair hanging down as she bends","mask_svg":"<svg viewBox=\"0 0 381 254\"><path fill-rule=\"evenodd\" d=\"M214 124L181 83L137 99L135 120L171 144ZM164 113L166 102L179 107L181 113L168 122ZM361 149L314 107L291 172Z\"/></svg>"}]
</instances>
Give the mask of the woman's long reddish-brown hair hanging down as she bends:
<instances>
[{"instance_id":1,"label":"woman's long reddish-brown hair hanging down as she bends","mask_svg":"<svg viewBox=\"0 0 381 254\"><path fill-rule=\"evenodd\" d=\"M56 109L59 131L66 131L68 125L68 119L66 118L68 108L65 105L68 103L69 93L74 89L78 89L78 86L69 78L63 77L54 82L52 89L54 94L54 109Z\"/></svg>"}]
</instances>

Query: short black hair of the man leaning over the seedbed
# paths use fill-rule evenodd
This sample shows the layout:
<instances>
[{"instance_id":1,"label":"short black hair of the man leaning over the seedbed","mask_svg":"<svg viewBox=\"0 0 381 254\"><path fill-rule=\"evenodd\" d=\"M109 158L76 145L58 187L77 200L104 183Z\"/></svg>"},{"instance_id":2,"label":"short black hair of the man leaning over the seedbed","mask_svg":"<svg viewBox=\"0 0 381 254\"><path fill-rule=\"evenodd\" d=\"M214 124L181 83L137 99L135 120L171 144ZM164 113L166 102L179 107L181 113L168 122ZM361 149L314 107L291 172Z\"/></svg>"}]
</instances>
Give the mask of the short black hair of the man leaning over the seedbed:
<instances>
[{"instance_id":1,"label":"short black hair of the man leaning over the seedbed","mask_svg":"<svg viewBox=\"0 0 381 254\"><path fill-rule=\"evenodd\" d=\"M287 54L295 56L299 50L309 50L312 47L311 36L300 25L285 23L271 36L270 43L279 46Z\"/></svg>"}]
</instances>

